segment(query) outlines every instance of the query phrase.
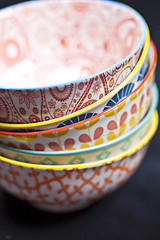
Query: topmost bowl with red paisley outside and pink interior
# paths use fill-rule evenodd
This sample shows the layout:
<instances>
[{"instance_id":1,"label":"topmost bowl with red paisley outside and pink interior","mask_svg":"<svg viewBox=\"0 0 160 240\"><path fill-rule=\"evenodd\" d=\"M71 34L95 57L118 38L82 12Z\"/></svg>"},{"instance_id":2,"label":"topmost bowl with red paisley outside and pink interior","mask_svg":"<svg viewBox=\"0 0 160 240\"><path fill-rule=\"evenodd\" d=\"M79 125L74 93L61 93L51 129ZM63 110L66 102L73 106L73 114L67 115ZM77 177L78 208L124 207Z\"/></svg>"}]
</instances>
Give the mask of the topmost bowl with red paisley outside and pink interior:
<instances>
[{"instance_id":1,"label":"topmost bowl with red paisley outside and pink interior","mask_svg":"<svg viewBox=\"0 0 160 240\"><path fill-rule=\"evenodd\" d=\"M131 73L146 35L140 14L111 1L1 10L0 121L41 123L96 103Z\"/></svg>"}]
</instances>

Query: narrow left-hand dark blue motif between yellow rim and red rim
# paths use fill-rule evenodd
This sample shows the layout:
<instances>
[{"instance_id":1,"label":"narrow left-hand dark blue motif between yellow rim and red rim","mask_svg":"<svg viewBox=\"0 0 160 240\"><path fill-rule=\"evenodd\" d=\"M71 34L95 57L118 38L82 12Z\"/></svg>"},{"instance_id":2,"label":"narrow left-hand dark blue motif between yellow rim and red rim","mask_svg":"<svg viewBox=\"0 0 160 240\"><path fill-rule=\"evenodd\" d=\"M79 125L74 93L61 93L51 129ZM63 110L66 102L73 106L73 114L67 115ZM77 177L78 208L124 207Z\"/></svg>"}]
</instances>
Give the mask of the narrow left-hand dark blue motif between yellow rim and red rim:
<instances>
[{"instance_id":1,"label":"narrow left-hand dark blue motif between yellow rim and red rim","mask_svg":"<svg viewBox=\"0 0 160 240\"><path fill-rule=\"evenodd\" d=\"M85 113L85 114L82 114L80 116L76 116L74 118L71 118L63 123L61 123L58 128L60 127L65 127L65 126L68 126L68 125L72 125L74 123L77 123L77 122L81 122L85 119L88 119L88 118L91 118L93 116L97 115L97 113Z\"/></svg>"}]
</instances>

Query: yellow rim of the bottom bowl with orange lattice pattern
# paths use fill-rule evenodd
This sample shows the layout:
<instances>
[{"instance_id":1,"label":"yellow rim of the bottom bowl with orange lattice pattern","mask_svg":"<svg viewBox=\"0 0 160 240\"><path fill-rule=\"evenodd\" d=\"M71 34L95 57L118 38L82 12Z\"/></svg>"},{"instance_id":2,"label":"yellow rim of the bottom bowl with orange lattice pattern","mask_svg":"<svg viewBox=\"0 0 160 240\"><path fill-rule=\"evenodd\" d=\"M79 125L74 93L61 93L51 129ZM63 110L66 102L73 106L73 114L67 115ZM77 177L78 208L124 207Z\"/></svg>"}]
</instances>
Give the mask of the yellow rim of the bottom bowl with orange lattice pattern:
<instances>
[{"instance_id":1,"label":"yellow rim of the bottom bowl with orange lattice pattern","mask_svg":"<svg viewBox=\"0 0 160 240\"><path fill-rule=\"evenodd\" d=\"M117 160L120 160L123 157L127 157L134 152L138 151L140 148L145 146L153 137L155 134L157 128L158 128L158 123L159 123L159 116L158 116L158 111L155 111L151 118L152 124L151 128L149 129L147 135L142 139L142 141L137 144L136 146L132 147L131 149L127 150L126 152L119 154L115 157L111 157L102 161L95 161L91 163L82 163L82 164L74 164L74 165L39 165L39 164L31 164L31 163L23 163L19 161L14 161L9 158L5 158L0 156L0 161L10 163L13 165L21 166L21 167L27 167L27 168L35 168L35 169L44 169L44 170L64 170L64 169L81 169L81 168L88 168L88 167L96 167L96 166L101 166L103 164L111 163Z\"/></svg>"}]
</instances>

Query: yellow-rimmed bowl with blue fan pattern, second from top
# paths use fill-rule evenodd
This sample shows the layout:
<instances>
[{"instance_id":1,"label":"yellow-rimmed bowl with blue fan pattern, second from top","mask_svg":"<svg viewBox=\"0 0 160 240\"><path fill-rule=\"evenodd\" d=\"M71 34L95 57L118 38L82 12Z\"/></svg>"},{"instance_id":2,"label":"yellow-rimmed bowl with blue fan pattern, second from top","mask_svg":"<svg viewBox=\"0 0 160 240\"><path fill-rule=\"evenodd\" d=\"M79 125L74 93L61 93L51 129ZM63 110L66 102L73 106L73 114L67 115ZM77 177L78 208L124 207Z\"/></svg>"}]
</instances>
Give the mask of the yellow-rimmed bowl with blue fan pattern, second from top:
<instances>
[{"instance_id":1,"label":"yellow-rimmed bowl with blue fan pattern, second from top","mask_svg":"<svg viewBox=\"0 0 160 240\"><path fill-rule=\"evenodd\" d=\"M138 61L136 67L133 69L132 73L112 92L110 92L107 96L100 99L99 101L93 103L91 106L88 106L84 109L81 109L75 113L69 114L64 117L60 117L53 120L48 120L44 122L37 122L37 123L27 123L27 124L11 124L11 123L2 123L0 122L0 129L7 130L7 131L20 131L20 132L34 132L38 130L50 130L53 128L59 128L63 122L66 125L71 125L75 123L75 117L78 116L77 121L82 121L84 119L88 119L91 116L97 115L97 113L101 113L108 102L113 101L115 103L114 96L117 92L121 89L126 88L129 84L132 86L127 91L125 91L124 95L121 95L121 98L116 98L116 103L121 101L125 96L129 95L131 91L134 91L142 82L144 76L146 75L146 71L149 67L150 60L150 51L154 48L154 43L151 41L151 46L149 47L150 42L150 35L149 31L147 31L147 37L145 41L145 46L143 52L141 54L140 60ZM151 48L151 49L150 49ZM155 51L154 51L155 52Z\"/></svg>"}]
</instances>

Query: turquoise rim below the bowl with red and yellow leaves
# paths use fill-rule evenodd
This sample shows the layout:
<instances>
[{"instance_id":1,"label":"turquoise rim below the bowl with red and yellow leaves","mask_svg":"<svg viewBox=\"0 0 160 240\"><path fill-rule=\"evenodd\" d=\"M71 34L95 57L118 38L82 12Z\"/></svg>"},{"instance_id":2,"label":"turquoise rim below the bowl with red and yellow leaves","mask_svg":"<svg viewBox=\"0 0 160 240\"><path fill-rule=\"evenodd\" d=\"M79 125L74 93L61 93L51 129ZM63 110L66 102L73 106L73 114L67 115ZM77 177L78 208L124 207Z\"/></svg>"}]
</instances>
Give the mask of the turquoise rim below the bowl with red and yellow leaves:
<instances>
[{"instance_id":1,"label":"turquoise rim below the bowl with red and yellow leaves","mask_svg":"<svg viewBox=\"0 0 160 240\"><path fill-rule=\"evenodd\" d=\"M100 145L89 147L89 148L77 149L77 150L73 150L73 151L57 151L57 152L56 151L55 152L52 152L52 151L47 152L47 151L24 150L24 149L18 149L18 148L4 146L2 144L0 144L0 147L2 147L4 149L11 150L11 151L14 151L14 152L25 153L25 154L29 154L29 155L66 156L66 155L76 155L76 154L88 153L88 152L91 152L91 151L97 151L99 149L103 149L103 148L106 148L106 147L113 146L113 145L127 139L128 137L132 136L136 132L138 132L149 121L149 119L152 117L153 113L155 112L155 110L157 108L158 100L159 100L159 92L158 92L158 87L157 87L156 84L154 84L154 87L153 87L152 91L153 91L154 97L152 98L153 100L152 100L150 109L149 109L148 113L146 114L146 116L142 119L142 121L136 127L132 128L126 134L123 134L120 137L118 137L118 138L116 138L112 141L102 143Z\"/></svg>"}]
</instances>

